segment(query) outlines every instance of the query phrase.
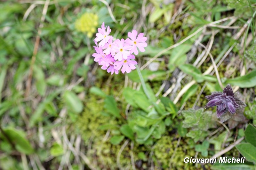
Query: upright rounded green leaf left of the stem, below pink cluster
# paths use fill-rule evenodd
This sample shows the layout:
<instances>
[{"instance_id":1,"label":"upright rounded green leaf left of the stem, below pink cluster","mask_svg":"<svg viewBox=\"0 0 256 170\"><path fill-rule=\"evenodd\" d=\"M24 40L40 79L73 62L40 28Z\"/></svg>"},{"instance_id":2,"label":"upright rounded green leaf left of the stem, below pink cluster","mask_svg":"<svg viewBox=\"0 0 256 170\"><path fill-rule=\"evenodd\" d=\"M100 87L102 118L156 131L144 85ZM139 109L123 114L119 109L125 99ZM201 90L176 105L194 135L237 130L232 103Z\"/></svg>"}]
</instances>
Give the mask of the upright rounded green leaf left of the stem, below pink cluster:
<instances>
[{"instance_id":1,"label":"upright rounded green leaf left of the stem, below pink cluster","mask_svg":"<svg viewBox=\"0 0 256 170\"><path fill-rule=\"evenodd\" d=\"M115 117L120 117L119 109L117 108L116 100L113 96L107 96L104 100L104 108L107 112Z\"/></svg>"}]
</instances>

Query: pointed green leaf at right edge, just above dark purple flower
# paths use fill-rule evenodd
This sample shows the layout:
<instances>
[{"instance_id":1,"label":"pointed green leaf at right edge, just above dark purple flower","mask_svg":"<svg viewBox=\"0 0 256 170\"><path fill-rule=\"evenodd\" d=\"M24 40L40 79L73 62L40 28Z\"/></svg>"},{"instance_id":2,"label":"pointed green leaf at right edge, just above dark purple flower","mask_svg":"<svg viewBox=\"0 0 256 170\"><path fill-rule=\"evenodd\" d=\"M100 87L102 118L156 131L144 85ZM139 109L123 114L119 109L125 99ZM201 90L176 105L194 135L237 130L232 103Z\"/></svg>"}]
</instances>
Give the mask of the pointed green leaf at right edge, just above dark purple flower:
<instances>
[{"instance_id":1,"label":"pointed green leaf at right edge, just above dark purple flower","mask_svg":"<svg viewBox=\"0 0 256 170\"><path fill-rule=\"evenodd\" d=\"M254 87L256 86L256 70L253 70L244 76L228 79L225 83L237 85L241 88Z\"/></svg>"}]
</instances>

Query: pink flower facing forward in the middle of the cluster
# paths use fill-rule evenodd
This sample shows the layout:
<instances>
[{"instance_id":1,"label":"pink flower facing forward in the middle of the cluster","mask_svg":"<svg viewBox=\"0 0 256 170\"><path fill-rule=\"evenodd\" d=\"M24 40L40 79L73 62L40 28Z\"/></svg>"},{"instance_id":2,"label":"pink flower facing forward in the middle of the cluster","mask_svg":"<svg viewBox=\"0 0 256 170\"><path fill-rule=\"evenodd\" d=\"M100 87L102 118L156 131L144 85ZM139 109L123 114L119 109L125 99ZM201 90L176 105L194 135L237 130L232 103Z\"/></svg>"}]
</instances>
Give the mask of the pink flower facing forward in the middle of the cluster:
<instances>
[{"instance_id":1,"label":"pink flower facing forward in the middle of the cluster","mask_svg":"<svg viewBox=\"0 0 256 170\"><path fill-rule=\"evenodd\" d=\"M124 39L122 38L121 41L117 39L114 41L114 45L112 45L112 51L111 55L115 55L114 59L118 61L122 61L123 59L126 60L127 57L131 54L130 50L132 47L128 44L125 43ZM116 54L115 54L116 53Z\"/></svg>"}]
</instances>

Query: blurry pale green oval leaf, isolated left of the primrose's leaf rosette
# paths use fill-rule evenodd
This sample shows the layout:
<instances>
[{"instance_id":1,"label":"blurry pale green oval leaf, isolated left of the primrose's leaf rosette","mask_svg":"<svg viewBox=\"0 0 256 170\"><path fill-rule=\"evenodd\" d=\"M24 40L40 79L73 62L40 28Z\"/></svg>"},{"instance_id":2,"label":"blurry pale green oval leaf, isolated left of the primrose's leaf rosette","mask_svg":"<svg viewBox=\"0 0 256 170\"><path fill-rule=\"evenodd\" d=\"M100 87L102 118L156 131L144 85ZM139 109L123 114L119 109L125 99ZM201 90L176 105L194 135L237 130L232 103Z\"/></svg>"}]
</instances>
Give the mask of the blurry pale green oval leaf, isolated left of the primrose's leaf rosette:
<instances>
[{"instance_id":1,"label":"blurry pale green oval leaf, isolated left of the primrose's leaf rosette","mask_svg":"<svg viewBox=\"0 0 256 170\"><path fill-rule=\"evenodd\" d=\"M82 112L84 105L74 92L71 92L71 91L64 92L63 100L66 103L67 108L71 112L75 112L75 113Z\"/></svg>"}]
</instances>

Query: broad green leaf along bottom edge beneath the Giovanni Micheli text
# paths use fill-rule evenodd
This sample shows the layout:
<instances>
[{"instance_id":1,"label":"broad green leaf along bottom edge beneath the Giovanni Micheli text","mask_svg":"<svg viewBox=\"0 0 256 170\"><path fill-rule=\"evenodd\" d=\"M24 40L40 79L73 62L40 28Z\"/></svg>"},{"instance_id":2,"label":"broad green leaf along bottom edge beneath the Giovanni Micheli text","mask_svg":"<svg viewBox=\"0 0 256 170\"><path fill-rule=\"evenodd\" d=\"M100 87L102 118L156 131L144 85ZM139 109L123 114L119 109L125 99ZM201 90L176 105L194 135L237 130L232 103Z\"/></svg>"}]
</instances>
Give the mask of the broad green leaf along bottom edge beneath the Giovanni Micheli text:
<instances>
[{"instance_id":1,"label":"broad green leaf along bottom edge beneath the Giovanni Micheli text","mask_svg":"<svg viewBox=\"0 0 256 170\"><path fill-rule=\"evenodd\" d=\"M255 170L253 165L246 165L241 163L216 163L211 166L213 170Z\"/></svg>"}]
</instances>

